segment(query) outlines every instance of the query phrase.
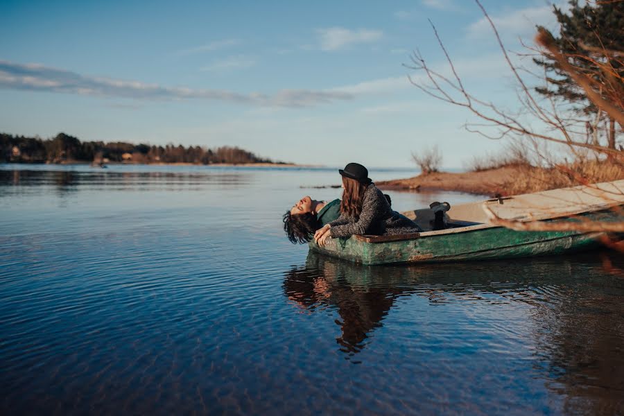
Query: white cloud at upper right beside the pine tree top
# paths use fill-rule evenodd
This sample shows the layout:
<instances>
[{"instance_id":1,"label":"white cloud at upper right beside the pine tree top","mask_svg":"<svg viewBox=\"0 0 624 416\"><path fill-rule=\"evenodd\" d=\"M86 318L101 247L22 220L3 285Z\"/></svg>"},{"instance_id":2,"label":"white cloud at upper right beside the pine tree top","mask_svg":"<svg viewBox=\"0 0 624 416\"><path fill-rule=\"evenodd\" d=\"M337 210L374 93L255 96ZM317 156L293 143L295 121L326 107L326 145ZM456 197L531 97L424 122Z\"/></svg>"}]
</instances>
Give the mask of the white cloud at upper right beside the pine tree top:
<instances>
[{"instance_id":1,"label":"white cloud at upper right beside the pine tree top","mask_svg":"<svg viewBox=\"0 0 624 416\"><path fill-rule=\"evenodd\" d=\"M512 12L505 12L500 16L490 16L496 30L501 35L532 35L535 33L535 25L553 26L555 15L552 6L539 6L523 8ZM468 26L468 35L471 37L484 37L492 35L492 27L485 17L480 18Z\"/></svg>"}]
</instances>

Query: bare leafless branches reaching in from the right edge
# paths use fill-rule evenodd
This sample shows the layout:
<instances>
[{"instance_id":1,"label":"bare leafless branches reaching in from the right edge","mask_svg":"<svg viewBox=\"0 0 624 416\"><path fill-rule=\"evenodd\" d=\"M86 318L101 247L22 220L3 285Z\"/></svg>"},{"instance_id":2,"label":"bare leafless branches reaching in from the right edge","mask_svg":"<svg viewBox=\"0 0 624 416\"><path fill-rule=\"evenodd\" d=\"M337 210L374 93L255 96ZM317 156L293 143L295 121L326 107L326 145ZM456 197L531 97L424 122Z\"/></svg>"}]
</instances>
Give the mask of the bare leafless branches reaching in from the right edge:
<instances>
[{"instance_id":1,"label":"bare leafless branches reaching in from the right edge","mask_svg":"<svg viewBox=\"0 0 624 416\"><path fill-rule=\"evenodd\" d=\"M416 50L412 56L413 64L408 67L424 73L425 77L424 81L417 81L415 78L410 77L410 82L425 94L445 103L463 107L476 116L479 120L478 123L465 125L465 128L470 132L477 132L489 139L514 137L522 141L528 141L532 146L535 146L536 150L541 143L562 145L577 158L577 161L591 154L595 158L596 164L601 164L605 162L605 160L608 160L609 163L618 166L618 172L623 172L621 168L624 166L624 150L621 147L616 148L616 146L610 143L607 144L607 146L602 146L600 141L596 139L601 130L604 132L604 130L612 128L612 125L600 124L600 116L596 118L595 122L593 120L583 119L578 115L578 112L573 112L569 106L566 106L566 104L561 101L557 101L553 97L548 97L546 101L544 101L544 98L536 96L535 89L521 76L521 73L528 73L531 79L535 79L537 75L545 84L549 81L548 77L545 73L540 76L526 69L517 67L512 62L492 19L489 17L480 1L475 0L475 2L480 10L482 10L487 22L489 22L489 26L492 28L492 33L496 42L499 44L503 58L508 64L512 78L517 84L520 110L517 112L504 110L494 105L494 103L469 92L465 84L462 83L456 66L453 64L453 60L451 60L433 24L431 24L433 33L447 60L450 75L447 76L430 67L423 55ZM535 42L536 46L527 46L531 54L538 54L543 58L548 58L549 60L557 62L560 69L565 71L569 77L577 83L578 87L587 95L589 101L597 107L598 114L606 114L609 119L616 121L620 125L620 128L624 126L624 111L622 105L624 51L612 51L595 47L590 50L589 46L583 46L591 52L587 55L595 60L594 66L596 67L596 71L600 71L600 77L598 77L591 76L591 74L587 73L586 69L581 70L575 67L573 64L574 60L557 48L557 44L553 42L553 36L551 33L548 33L546 29L539 28ZM617 67L614 67L612 62L619 62L619 64ZM601 79L608 79L609 85L606 85L606 83L605 85L600 85ZM604 89L607 87L612 88L612 91L607 91L605 93ZM597 91L600 91L601 94L598 94ZM532 123L532 121L536 120L539 121L537 127L535 127L536 123ZM613 137L613 135L609 136L607 132L605 132L604 136ZM546 159L546 157L539 152L536 153L538 157L543 159L544 164L550 164L554 168L557 168L564 175L571 177L575 183L584 184L589 187L593 186L593 184L591 184L591 177L584 175L584 171L575 168L578 164L570 163L566 160L564 160L564 162L556 162L553 159ZM618 196L616 198L614 198L614 195L605 195L605 201L614 199L621 201L623 194L624 189L618 191ZM621 215L621 202L619 205L616 204L613 209L620 211ZM514 229L557 229L560 231L575 230L578 232L622 232L624 229L624 222L622 221L616 223L589 223L579 220L575 223L555 225L544 222L531 222L527 221L526 218L524 220L503 219L496 216L491 210L489 210L487 214L489 214L491 223ZM621 244L614 245L614 247L624 251L624 246Z\"/></svg>"}]
</instances>

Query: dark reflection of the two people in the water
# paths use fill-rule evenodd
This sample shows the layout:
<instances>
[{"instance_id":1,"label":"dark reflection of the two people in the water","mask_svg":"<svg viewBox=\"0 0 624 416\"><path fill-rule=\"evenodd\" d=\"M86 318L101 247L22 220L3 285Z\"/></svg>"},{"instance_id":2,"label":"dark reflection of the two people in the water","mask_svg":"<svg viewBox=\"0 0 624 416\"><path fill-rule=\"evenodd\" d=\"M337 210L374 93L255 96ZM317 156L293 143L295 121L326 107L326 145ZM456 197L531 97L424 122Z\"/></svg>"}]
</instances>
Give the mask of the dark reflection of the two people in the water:
<instances>
[{"instance_id":1,"label":"dark reflection of the two people in the water","mask_svg":"<svg viewBox=\"0 0 624 416\"><path fill-rule=\"evenodd\" d=\"M395 299L404 291L379 284L385 268L357 266L310 252L306 267L293 268L284 277L284 293L307 311L336 306L341 335L339 349L352 356L367 345L370 332L382 326Z\"/></svg>"}]
</instances>

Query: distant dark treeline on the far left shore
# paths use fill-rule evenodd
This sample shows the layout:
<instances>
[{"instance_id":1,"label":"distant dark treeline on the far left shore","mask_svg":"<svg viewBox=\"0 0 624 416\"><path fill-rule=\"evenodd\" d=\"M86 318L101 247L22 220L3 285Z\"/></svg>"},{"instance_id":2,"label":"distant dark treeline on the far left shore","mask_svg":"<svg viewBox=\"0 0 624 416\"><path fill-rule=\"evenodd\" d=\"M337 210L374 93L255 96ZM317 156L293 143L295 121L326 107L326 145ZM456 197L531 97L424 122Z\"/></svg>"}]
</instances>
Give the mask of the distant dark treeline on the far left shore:
<instances>
[{"instance_id":1,"label":"distant dark treeline on the far left shore","mask_svg":"<svg viewBox=\"0 0 624 416\"><path fill-rule=\"evenodd\" d=\"M71 162L129 162L129 163L193 163L193 164L247 164L273 163L247 150L223 146L150 146L122 141L80 141L59 133L51 139L24 137L0 133L0 162L17 163L71 163ZM282 162L278 162L282 163Z\"/></svg>"}]
</instances>

